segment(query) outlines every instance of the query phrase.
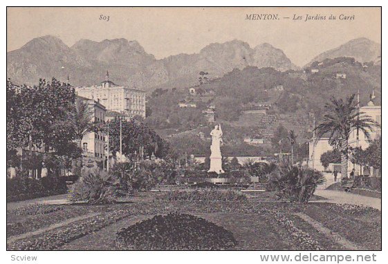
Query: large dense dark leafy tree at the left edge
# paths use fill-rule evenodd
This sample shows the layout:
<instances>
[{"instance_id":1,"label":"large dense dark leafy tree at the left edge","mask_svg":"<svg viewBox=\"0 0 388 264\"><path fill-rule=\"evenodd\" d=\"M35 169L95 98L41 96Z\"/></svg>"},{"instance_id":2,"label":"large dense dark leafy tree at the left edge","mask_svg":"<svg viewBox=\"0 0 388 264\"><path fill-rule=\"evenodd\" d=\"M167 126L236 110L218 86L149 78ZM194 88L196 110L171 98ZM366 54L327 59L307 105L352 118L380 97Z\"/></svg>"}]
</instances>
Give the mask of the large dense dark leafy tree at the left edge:
<instances>
[{"instance_id":1,"label":"large dense dark leafy tree at the left edge","mask_svg":"<svg viewBox=\"0 0 388 264\"><path fill-rule=\"evenodd\" d=\"M74 104L74 88L69 84L39 79L35 86L17 86L7 80L7 150L28 147L29 157L33 145L55 149L59 142L73 140L64 129L69 109Z\"/></svg>"}]
</instances>

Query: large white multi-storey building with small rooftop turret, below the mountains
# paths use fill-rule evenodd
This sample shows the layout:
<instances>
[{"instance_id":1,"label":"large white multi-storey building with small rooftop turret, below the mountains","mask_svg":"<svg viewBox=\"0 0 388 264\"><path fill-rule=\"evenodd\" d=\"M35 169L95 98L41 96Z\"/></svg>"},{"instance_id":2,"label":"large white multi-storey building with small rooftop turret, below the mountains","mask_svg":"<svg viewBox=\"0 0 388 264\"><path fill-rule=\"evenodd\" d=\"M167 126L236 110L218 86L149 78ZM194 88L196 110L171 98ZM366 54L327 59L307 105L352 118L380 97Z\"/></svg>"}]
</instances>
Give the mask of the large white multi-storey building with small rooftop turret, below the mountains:
<instances>
[{"instance_id":1,"label":"large white multi-storey building with small rooftop turret, below the mountains","mask_svg":"<svg viewBox=\"0 0 388 264\"><path fill-rule=\"evenodd\" d=\"M75 88L78 95L95 100L109 111L145 117L145 91L114 84L107 73L104 82Z\"/></svg>"}]
</instances>

